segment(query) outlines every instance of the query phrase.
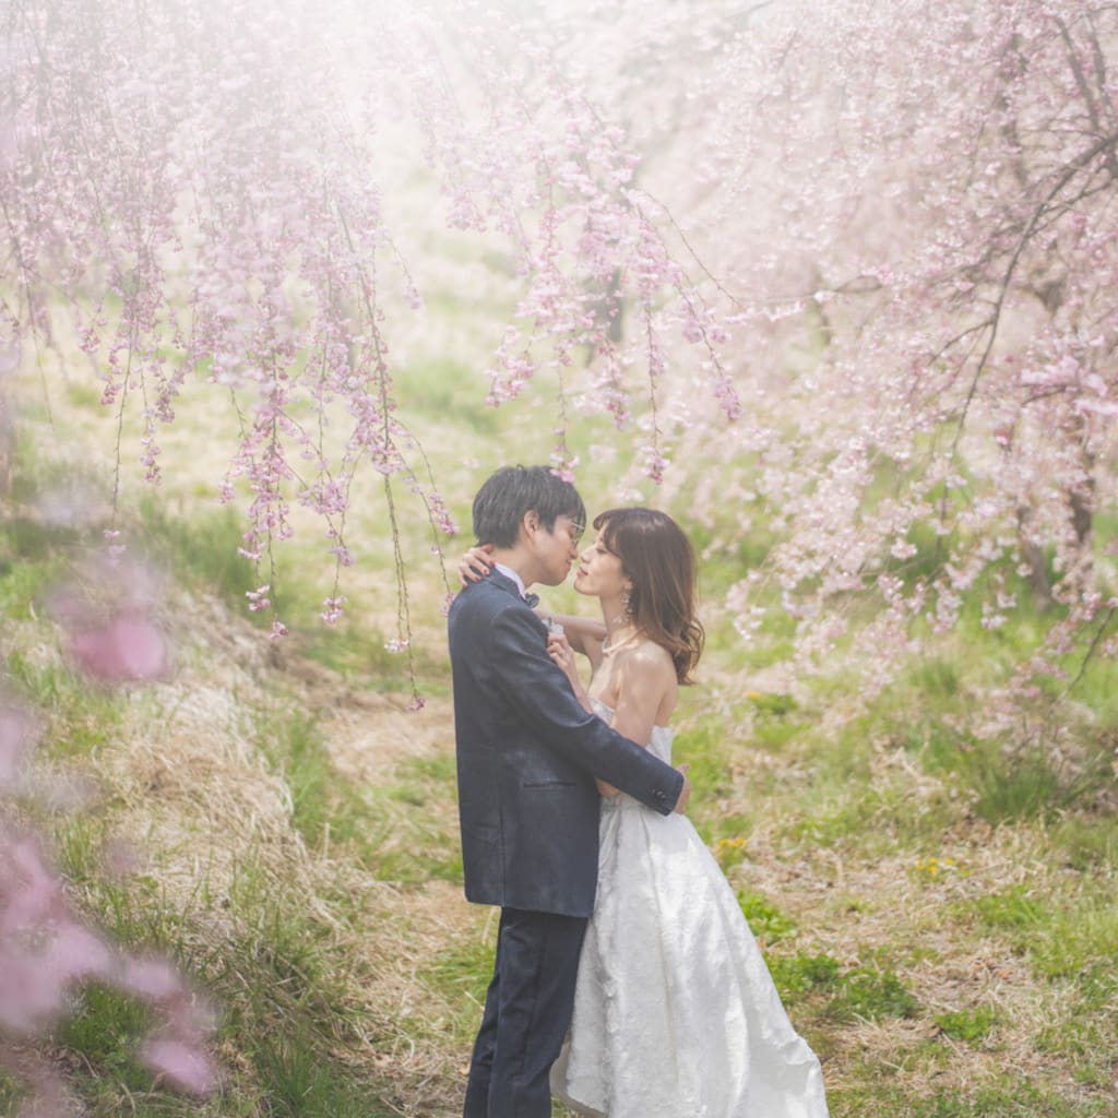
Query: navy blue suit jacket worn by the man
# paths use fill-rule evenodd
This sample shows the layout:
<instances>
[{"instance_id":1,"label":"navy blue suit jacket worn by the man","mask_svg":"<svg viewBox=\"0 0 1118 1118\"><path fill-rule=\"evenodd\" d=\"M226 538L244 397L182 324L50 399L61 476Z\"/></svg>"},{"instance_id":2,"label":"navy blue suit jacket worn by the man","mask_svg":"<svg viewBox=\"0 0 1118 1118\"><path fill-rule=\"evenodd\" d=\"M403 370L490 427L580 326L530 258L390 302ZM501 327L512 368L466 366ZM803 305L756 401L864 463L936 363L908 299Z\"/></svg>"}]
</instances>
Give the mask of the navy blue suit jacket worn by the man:
<instances>
[{"instance_id":1,"label":"navy blue suit jacket worn by the man","mask_svg":"<svg viewBox=\"0 0 1118 1118\"><path fill-rule=\"evenodd\" d=\"M543 623L500 571L458 594L449 636L466 899L589 916L594 778L666 815L683 777L582 709Z\"/></svg>"}]
</instances>

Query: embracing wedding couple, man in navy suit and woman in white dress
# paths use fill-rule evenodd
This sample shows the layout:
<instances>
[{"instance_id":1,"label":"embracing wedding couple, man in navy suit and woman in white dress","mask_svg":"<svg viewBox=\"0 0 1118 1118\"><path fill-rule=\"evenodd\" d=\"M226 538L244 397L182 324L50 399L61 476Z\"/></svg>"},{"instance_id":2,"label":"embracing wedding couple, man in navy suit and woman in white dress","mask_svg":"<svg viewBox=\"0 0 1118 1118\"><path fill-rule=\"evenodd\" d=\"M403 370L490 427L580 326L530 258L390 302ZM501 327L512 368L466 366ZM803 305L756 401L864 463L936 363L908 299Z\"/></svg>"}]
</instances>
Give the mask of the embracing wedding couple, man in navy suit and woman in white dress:
<instances>
[{"instance_id":1,"label":"embracing wedding couple, man in navy suit and woman in white dress","mask_svg":"<svg viewBox=\"0 0 1118 1118\"><path fill-rule=\"evenodd\" d=\"M449 613L466 898L501 908L464 1118L825 1118L729 883L683 815L667 720L702 650L694 555L650 509L594 522L546 466L479 491ZM540 613L533 584L603 620ZM591 666L584 686L574 654Z\"/></svg>"}]
</instances>

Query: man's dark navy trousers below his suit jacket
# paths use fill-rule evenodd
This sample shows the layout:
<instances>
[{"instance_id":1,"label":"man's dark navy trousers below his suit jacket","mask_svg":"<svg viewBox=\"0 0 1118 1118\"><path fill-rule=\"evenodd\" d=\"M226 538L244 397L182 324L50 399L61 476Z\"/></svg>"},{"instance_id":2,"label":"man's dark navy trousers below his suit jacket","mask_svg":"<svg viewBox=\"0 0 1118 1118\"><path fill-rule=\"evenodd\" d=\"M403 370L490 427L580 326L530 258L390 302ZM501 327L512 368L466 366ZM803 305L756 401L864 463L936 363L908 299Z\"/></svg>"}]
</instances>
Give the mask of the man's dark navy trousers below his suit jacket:
<instances>
[{"instance_id":1,"label":"man's dark navy trousers below his suit jacket","mask_svg":"<svg viewBox=\"0 0 1118 1118\"><path fill-rule=\"evenodd\" d=\"M550 1118L586 917L502 909L463 1118Z\"/></svg>"}]
</instances>

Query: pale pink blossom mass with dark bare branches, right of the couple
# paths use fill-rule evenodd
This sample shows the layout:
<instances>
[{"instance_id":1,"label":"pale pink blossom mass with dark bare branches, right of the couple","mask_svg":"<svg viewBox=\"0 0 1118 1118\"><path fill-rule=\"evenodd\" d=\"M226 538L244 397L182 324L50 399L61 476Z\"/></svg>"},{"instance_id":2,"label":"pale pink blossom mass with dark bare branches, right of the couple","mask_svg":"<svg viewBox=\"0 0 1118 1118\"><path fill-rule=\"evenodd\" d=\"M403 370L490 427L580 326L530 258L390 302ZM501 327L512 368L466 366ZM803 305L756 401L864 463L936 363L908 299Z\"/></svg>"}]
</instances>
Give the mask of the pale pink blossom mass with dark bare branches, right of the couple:
<instances>
[{"instance_id":1,"label":"pale pink blossom mass with dark bare branches, right of the couple","mask_svg":"<svg viewBox=\"0 0 1118 1118\"><path fill-rule=\"evenodd\" d=\"M996 628L1035 596L1063 608L1022 679L1071 683L1118 652L1096 539L1118 429L1118 12L841 0L742 26L652 187L749 339L730 367L747 423L686 444L723 466L694 514L716 527L737 499L739 528L756 510L775 538L731 594L740 627L775 586L805 665L854 632L883 682L966 603ZM681 153L708 170L673 187Z\"/></svg>"}]
</instances>

